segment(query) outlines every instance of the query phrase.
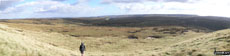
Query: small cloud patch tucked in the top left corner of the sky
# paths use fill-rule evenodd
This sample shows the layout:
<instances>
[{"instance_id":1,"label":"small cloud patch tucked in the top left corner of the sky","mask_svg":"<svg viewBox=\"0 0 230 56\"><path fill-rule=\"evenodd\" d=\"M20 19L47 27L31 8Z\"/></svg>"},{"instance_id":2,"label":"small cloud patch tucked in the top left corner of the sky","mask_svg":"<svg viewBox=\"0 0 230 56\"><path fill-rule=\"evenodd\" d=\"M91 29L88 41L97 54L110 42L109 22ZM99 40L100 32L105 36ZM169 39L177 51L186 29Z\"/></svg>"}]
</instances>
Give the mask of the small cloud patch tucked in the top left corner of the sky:
<instances>
[{"instance_id":1,"label":"small cloud patch tucked in the top left corner of the sky","mask_svg":"<svg viewBox=\"0 0 230 56\"><path fill-rule=\"evenodd\" d=\"M23 0L0 0L0 10L4 10L10 6L15 5L17 2L20 2Z\"/></svg>"}]
</instances>

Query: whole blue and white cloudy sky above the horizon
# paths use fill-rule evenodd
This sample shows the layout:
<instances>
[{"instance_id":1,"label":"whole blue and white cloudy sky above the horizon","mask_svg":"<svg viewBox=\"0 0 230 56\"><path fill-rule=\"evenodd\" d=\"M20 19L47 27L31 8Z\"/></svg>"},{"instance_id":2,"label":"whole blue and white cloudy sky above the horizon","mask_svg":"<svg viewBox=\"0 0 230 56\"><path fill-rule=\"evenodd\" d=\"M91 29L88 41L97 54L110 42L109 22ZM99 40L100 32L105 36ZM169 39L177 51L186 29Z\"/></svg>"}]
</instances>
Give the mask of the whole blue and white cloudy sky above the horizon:
<instances>
[{"instance_id":1,"label":"whole blue and white cloudy sky above the horizon","mask_svg":"<svg viewBox=\"0 0 230 56\"><path fill-rule=\"evenodd\" d=\"M0 0L0 19L129 14L230 17L230 0Z\"/></svg>"}]
</instances>

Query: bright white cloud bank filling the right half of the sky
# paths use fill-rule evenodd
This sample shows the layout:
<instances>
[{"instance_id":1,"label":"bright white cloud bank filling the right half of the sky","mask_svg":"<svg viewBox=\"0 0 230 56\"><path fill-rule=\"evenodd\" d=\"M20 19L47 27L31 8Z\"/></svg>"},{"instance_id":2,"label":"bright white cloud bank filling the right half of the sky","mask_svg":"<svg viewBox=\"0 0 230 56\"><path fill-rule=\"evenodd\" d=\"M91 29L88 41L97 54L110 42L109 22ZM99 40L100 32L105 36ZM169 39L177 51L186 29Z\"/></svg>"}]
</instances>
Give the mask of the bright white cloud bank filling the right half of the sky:
<instances>
[{"instance_id":1,"label":"bright white cloud bank filling the right half of the sky","mask_svg":"<svg viewBox=\"0 0 230 56\"><path fill-rule=\"evenodd\" d=\"M192 2L192 3L190 3ZM113 3L127 14L198 14L230 17L230 1L197 0L181 2Z\"/></svg>"}]
</instances>

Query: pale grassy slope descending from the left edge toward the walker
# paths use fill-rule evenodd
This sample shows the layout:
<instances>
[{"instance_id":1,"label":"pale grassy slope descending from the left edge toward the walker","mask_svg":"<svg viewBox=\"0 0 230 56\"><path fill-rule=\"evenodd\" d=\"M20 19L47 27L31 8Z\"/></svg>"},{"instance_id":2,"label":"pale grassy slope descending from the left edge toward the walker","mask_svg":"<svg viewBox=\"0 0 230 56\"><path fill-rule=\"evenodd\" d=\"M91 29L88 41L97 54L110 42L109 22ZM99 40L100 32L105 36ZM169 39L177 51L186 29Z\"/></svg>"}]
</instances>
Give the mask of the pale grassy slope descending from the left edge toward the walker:
<instances>
[{"instance_id":1,"label":"pale grassy slope descending from the left edge toward the walker","mask_svg":"<svg viewBox=\"0 0 230 56\"><path fill-rule=\"evenodd\" d=\"M0 56L71 56L72 51L24 36L14 28L0 25Z\"/></svg>"}]
</instances>

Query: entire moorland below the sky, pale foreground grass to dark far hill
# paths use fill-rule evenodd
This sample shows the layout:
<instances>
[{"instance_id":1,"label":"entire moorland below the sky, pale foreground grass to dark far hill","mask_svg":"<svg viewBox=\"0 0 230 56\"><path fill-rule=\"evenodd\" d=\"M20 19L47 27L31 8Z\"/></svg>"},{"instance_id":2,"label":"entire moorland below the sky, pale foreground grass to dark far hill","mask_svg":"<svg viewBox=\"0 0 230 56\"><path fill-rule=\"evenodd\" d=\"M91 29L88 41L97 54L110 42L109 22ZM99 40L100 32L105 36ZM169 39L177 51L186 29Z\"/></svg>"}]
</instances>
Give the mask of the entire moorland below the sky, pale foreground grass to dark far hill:
<instances>
[{"instance_id":1,"label":"entire moorland below the sky, pale foreground grass to dark far hill","mask_svg":"<svg viewBox=\"0 0 230 56\"><path fill-rule=\"evenodd\" d=\"M213 56L230 51L230 19L123 15L0 20L0 56Z\"/></svg>"}]
</instances>

